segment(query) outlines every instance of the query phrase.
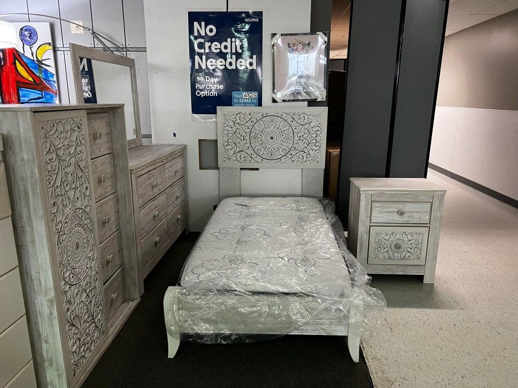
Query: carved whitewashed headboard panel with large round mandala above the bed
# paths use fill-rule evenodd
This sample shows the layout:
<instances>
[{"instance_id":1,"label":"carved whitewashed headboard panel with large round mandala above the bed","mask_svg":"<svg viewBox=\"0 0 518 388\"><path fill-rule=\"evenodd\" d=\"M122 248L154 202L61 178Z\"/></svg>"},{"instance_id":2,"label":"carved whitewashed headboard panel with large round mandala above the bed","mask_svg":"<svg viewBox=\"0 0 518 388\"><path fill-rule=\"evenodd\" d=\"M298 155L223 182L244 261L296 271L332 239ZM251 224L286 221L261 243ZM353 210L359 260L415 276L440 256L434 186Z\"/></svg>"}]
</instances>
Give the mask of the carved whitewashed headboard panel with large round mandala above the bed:
<instances>
[{"instance_id":1,"label":"carved whitewashed headboard panel with large round mandala above the bed","mask_svg":"<svg viewBox=\"0 0 518 388\"><path fill-rule=\"evenodd\" d=\"M316 164L325 143L322 111L229 111L221 118L224 163Z\"/></svg>"}]
</instances>

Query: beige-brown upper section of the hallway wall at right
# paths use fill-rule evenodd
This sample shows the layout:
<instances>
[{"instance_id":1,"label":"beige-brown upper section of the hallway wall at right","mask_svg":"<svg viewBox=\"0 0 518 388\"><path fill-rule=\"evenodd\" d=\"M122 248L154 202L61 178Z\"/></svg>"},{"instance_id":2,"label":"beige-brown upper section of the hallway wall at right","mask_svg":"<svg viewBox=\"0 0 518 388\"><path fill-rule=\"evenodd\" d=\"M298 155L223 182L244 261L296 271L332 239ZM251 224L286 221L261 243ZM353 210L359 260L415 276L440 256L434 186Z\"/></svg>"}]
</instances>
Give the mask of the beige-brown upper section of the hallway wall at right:
<instances>
[{"instance_id":1,"label":"beige-brown upper section of the hallway wall at right","mask_svg":"<svg viewBox=\"0 0 518 388\"><path fill-rule=\"evenodd\" d=\"M518 110L518 10L445 38L437 105Z\"/></svg>"}]
</instances>

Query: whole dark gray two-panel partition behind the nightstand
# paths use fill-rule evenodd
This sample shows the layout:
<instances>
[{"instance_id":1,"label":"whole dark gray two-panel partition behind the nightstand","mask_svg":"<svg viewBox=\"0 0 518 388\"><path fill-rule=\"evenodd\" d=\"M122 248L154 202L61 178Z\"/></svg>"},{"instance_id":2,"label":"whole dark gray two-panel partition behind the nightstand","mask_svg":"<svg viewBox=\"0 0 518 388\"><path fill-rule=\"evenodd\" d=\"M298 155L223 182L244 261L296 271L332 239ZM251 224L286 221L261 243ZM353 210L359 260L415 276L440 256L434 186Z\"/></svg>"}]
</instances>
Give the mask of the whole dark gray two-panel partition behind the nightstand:
<instances>
[{"instance_id":1,"label":"whole dark gray two-panel partition behind the nightstand","mask_svg":"<svg viewBox=\"0 0 518 388\"><path fill-rule=\"evenodd\" d=\"M424 177L446 0L353 0L337 214L350 177Z\"/></svg>"}]
</instances>

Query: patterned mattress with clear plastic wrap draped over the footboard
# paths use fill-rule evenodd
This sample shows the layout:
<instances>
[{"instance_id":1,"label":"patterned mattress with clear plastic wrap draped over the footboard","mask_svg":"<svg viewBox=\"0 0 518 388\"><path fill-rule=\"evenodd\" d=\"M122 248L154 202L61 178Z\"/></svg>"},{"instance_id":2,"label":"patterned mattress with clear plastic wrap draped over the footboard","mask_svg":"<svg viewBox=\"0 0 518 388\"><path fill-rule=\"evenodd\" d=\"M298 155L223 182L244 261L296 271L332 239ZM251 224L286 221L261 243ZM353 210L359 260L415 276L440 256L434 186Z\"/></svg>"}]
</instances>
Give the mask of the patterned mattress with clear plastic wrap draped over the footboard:
<instances>
[{"instance_id":1,"label":"patterned mattress with clear plastic wrap draped over the footboard","mask_svg":"<svg viewBox=\"0 0 518 388\"><path fill-rule=\"evenodd\" d=\"M344 335L350 325L365 337L386 309L369 281L346 247L334 202L227 198L185 261L178 297L164 301L166 327L204 343Z\"/></svg>"}]
</instances>

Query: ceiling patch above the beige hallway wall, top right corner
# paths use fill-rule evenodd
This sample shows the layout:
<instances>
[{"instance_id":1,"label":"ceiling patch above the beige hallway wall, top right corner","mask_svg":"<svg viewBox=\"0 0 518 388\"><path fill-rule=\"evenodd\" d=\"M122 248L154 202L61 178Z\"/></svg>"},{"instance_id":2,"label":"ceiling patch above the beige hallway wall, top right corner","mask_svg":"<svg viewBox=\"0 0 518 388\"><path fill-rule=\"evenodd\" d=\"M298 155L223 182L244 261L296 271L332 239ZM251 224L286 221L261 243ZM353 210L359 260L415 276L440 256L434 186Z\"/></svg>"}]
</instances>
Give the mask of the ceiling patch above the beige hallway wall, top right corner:
<instances>
[{"instance_id":1,"label":"ceiling patch above the beige hallway wall, top right corner","mask_svg":"<svg viewBox=\"0 0 518 388\"><path fill-rule=\"evenodd\" d=\"M518 0L450 0L446 36L518 8Z\"/></svg>"}]
</instances>

